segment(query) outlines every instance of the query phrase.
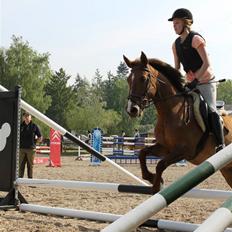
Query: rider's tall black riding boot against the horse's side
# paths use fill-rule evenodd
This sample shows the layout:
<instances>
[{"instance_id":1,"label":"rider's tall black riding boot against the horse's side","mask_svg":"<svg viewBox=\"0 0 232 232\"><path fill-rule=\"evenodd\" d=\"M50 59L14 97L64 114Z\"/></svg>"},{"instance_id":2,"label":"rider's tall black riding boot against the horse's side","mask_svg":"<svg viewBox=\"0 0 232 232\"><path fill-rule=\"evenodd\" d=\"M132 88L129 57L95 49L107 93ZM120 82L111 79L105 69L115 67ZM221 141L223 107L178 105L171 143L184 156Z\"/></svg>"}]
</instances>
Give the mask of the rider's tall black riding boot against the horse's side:
<instances>
[{"instance_id":1,"label":"rider's tall black riding boot against the horse's side","mask_svg":"<svg viewBox=\"0 0 232 232\"><path fill-rule=\"evenodd\" d=\"M225 147L224 132L221 124L220 116L217 112L210 113L210 124L212 132L215 135L217 146L216 153Z\"/></svg>"}]
</instances>

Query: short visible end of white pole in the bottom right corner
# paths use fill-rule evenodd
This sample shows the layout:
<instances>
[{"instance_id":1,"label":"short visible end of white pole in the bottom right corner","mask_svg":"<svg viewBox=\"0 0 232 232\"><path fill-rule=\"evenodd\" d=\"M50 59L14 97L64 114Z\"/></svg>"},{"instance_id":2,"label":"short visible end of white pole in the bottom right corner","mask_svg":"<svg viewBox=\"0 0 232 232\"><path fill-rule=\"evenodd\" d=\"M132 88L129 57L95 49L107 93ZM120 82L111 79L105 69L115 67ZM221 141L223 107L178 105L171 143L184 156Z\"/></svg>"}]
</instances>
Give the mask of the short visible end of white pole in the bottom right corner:
<instances>
[{"instance_id":1,"label":"short visible end of white pole in the bottom right corner","mask_svg":"<svg viewBox=\"0 0 232 232\"><path fill-rule=\"evenodd\" d=\"M232 224L232 197L207 218L195 232L221 232Z\"/></svg>"}]
</instances>

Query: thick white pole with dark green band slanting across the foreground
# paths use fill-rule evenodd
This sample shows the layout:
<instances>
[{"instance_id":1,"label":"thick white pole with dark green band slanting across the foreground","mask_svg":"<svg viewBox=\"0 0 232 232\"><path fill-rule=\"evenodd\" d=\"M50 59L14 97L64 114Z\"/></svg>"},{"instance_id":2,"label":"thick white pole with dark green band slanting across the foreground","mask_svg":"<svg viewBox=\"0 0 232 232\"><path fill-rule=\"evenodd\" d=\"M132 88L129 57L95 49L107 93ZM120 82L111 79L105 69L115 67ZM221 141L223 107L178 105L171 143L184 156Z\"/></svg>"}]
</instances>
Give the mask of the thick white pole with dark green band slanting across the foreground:
<instances>
[{"instance_id":1,"label":"thick white pole with dark green band slanting across the foreground","mask_svg":"<svg viewBox=\"0 0 232 232\"><path fill-rule=\"evenodd\" d=\"M148 218L174 202L181 195L207 179L231 161L232 144L211 156L182 178L173 182L159 193L126 213L124 216L103 229L102 232L127 232L136 229Z\"/></svg>"}]
</instances>

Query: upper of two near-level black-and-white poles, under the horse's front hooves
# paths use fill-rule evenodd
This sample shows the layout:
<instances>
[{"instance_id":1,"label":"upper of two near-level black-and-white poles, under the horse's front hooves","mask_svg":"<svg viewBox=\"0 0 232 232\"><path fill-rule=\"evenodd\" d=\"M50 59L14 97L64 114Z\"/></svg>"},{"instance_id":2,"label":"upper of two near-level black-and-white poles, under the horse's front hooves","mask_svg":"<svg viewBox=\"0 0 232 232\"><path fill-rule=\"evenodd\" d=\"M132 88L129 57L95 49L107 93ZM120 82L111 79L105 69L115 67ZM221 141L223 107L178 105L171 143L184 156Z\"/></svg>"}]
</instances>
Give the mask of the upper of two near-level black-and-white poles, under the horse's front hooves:
<instances>
[{"instance_id":1,"label":"upper of two near-level black-and-white poles, under the horse's front hooves","mask_svg":"<svg viewBox=\"0 0 232 232\"><path fill-rule=\"evenodd\" d=\"M16 186L36 186L36 187L56 187L81 190L100 190L118 193L135 193L135 194L150 194L152 188L142 185L126 185L118 183L105 182L86 182L86 181L70 181L70 180L48 180L48 179L27 179L18 178L15 181ZM225 200L232 197L232 191L212 190L212 189L192 189L182 197L197 198L197 199L219 199Z\"/></svg>"}]
</instances>

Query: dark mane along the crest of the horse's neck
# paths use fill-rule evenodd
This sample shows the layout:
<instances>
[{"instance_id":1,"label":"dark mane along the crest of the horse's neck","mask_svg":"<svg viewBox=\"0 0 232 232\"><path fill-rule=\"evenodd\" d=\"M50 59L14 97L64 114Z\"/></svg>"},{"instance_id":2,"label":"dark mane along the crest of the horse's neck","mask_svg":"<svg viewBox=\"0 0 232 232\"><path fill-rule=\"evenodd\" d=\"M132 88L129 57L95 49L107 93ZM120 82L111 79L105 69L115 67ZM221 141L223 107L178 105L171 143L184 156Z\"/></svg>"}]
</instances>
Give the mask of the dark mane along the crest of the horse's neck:
<instances>
[{"instance_id":1,"label":"dark mane along the crest of the horse's neck","mask_svg":"<svg viewBox=\"0 0 232 232\"><path fill-rule=\"evenodd\" d=\"M184 77L177 69L161 60L154 58L148 59L148 62L153 68L161 72L178 91L184 91Z\"/></svg>"}]
</instances>

